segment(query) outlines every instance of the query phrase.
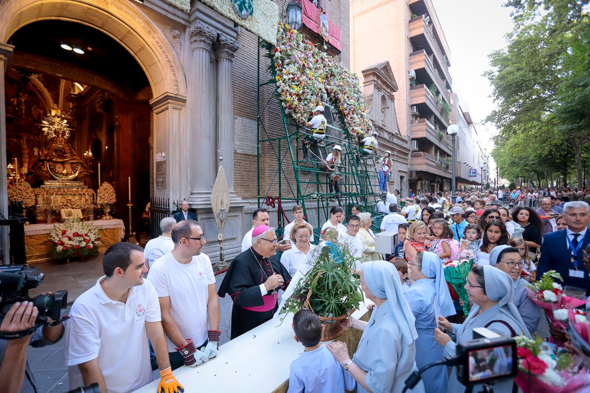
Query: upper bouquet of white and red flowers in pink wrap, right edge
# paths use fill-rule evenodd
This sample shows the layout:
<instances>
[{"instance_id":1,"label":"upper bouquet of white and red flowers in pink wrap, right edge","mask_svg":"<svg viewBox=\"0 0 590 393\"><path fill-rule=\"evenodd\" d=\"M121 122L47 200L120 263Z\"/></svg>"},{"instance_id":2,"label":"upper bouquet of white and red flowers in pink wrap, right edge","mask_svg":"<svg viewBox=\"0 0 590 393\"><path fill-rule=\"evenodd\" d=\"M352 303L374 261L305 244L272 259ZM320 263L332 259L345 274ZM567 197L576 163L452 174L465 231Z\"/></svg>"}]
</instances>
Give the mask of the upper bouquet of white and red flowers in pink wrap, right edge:
<instances>
[{"instance_id":1,"label":"upper bouquet of white and red flowers in pink wrap, right edge","mask_svg":"<svg viewBox=\"0 0 590 393\"><path fill-rule=\"evenodd\" d=\"M568 325L568 311L586 304L588 300L565 296L562 286L556 283L555 280L563 282L559 273L556 273L555 270L549 270L543 273L542 278L527 285L527 292L529 298L545 311L551 324L555 328L565 330ZM550 341L552 341L552 338L550 338Z\"/></svg>"}]
</instances>

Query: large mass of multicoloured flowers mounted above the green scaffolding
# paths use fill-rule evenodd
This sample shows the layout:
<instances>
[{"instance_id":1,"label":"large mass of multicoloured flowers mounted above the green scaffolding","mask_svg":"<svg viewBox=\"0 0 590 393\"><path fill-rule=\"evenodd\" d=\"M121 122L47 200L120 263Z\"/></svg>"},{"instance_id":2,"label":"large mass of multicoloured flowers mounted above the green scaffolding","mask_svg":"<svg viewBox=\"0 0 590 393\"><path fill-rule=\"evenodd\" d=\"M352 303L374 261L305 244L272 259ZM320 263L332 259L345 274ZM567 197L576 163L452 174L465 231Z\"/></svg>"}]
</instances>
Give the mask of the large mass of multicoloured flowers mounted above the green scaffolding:
<instances>
[{"instance_id":1,"label":"large mass of multicoloured flowers mounted above the green scaffolding","mask_svg":"<svg viewBox=\"0 0 590 393\"><path fill-rule=\"evenodd\" d=\"M356 75L303 34L279 24L277 46L270 49L270 57L281 104L297 124L303 124L314 107L330 100L342 112L350 137L361 140L373 132Z\"/></svg>"}]
</instances>

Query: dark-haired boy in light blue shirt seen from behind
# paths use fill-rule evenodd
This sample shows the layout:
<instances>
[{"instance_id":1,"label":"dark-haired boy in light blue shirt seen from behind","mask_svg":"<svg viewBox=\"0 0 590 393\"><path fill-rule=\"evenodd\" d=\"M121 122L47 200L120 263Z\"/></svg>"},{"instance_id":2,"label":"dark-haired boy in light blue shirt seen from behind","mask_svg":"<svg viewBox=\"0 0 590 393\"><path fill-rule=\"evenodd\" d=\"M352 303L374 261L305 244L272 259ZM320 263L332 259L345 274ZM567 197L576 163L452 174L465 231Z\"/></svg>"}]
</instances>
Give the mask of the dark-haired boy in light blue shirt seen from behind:
<instances>
[{"instance_id":1,"label":"dark-haired boy in light blue shirt seen from behind","mask_svg":"<svg viewBox=\"0 0 590 393\"><path fill-rule=\"evenodd\" d=\"M287 393L333 393L352 391L356 381L322 345L322 322L311 310L300 310L293 316L295 341L305 347L303 354L291 363Z\"/></svg>"}]
</instances>

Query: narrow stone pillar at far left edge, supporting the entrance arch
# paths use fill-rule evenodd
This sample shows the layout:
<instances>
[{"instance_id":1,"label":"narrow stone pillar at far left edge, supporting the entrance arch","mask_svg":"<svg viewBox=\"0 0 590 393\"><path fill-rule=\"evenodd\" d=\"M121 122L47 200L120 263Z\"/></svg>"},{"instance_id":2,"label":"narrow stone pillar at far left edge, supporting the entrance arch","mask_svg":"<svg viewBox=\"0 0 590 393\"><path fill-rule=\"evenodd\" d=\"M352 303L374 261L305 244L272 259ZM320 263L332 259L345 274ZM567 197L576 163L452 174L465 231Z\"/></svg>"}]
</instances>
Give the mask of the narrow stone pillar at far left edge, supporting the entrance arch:
<instances>
[{"instance_id":1,"label":"narrow stone pillar at far left edge, supporting the entrance arch","mask_svg":"<svg viewBox=\"0 0 590 393\"><path fill-rule=\"evenodd\" d=\"M12 61L14 47L0 44L0 219L8 219L8 180L6 179L6 96L4 73ZM8 226L0 226L0 247L4 249L4 263L10 263Z\"/></svg>"}]
</instances>

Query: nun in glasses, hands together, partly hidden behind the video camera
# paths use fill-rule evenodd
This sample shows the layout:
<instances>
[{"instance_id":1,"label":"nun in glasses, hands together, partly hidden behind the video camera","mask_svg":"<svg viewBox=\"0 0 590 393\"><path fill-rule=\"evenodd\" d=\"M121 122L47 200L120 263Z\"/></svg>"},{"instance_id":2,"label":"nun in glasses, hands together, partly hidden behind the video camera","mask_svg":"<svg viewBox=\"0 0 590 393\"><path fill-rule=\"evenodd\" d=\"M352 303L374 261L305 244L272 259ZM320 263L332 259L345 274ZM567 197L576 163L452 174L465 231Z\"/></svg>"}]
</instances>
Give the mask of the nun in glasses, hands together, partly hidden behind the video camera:
<instances>
[{"instance_id":1,"label":"nun in glasses, hands together, partly hidden behind the video camera","mask_svg":"<svg viewBox=\"0 0 590 393\"><path fill-rule=\"evenodd\" d=\"M465 322L450 323L440 317L441 329L452 332L456 336L453 342L450 336L435 329L434 338L438 344L444 346L445 356L454 357L457 354L457 344L471 341L473 329L487 328L501 336L525 335L530 337L520 313L512 303L514 284L509 275L493 266L474 266L467 276L465 289L473 307ZM496 392L512 392L514 379L497 381L494 384ZM447 393L461 393L465 385L457 380L457 368L453 367L448 379ZM474 385L473 393L483 391L483 385Z\"/></svg>"}]
</instances>

